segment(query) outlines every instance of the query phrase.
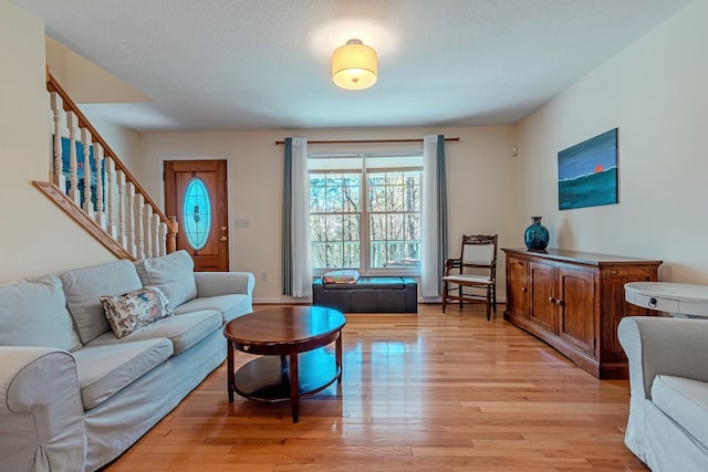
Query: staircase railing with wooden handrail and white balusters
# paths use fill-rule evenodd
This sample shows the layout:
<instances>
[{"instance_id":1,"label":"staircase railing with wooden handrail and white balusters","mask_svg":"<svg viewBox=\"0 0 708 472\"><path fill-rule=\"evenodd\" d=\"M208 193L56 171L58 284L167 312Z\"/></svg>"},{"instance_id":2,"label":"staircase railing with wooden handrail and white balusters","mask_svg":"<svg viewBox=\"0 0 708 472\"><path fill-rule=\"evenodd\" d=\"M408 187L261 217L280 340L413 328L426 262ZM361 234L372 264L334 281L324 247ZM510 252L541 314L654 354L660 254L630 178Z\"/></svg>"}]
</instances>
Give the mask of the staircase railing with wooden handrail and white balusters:
<instances>
[{"instance_id":1,"label":"staircase railing with wooden handrail and white balusters","mask_svg":"<svg viewBox=\"0 0 708 472\"><path fill-rule=\"evenodd\" d=\"M118 259L174 252L177 219L160 211L49 71L46 90L51 181L32 183Z\"/></svg>"}]
</instances>

